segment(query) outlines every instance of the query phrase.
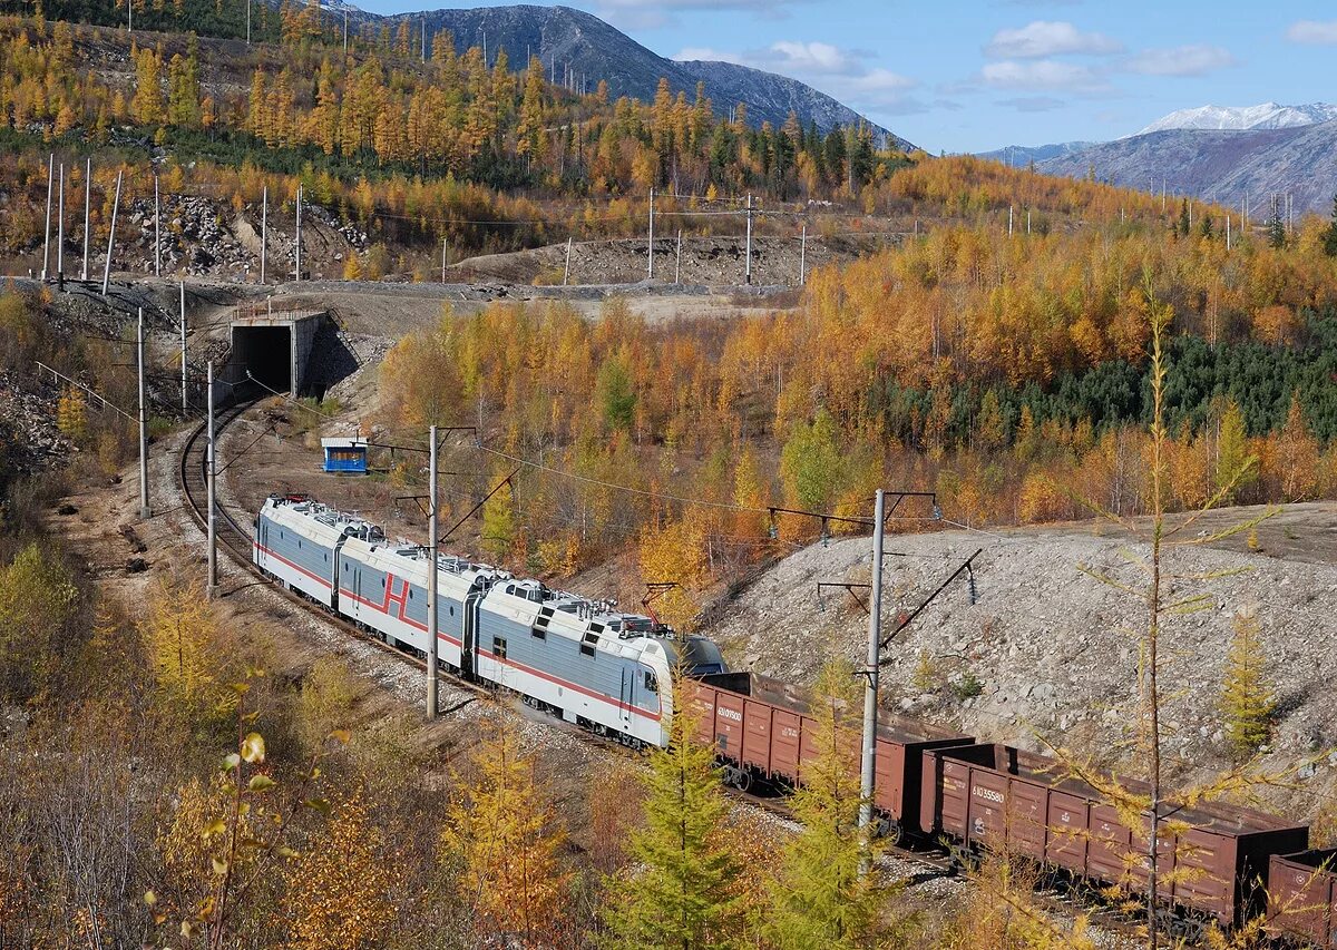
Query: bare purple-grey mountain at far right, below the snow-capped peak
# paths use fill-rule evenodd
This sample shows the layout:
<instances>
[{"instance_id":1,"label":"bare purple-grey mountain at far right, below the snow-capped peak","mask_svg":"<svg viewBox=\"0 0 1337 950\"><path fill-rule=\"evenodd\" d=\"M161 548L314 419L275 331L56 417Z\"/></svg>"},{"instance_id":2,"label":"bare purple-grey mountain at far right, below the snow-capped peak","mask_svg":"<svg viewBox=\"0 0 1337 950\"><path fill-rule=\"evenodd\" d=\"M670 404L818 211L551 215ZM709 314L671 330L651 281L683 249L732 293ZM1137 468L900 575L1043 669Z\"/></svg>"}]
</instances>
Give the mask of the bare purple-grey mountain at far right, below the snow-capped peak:
<instances>
[{"instance_id":1,"label":"bare purple-grey mountain at far right, below the snow-capped peak","mask_svg":"<svg viewBox=\"0 0 1337 950\"><path fill-rule=\"evenodd\" d=\"M1130 188L1189 194L1262 219L1270 195L1290 194L1297 211L1326 214L1337 194L1337 120L1254 130L1173 128L1106 142L1043 162L1039 171Z\"/></svg>"}]
</instances>

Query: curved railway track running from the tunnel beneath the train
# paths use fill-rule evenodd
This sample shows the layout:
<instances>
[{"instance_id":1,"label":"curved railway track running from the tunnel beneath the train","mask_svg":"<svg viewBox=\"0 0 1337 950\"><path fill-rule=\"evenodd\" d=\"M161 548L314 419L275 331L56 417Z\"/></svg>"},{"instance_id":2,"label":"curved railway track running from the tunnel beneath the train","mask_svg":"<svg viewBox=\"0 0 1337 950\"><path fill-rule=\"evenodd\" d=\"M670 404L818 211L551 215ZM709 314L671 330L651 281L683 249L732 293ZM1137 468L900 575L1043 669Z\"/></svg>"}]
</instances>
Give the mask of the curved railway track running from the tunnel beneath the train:
<instances>
[{"instance_id":1,"label":"curved railway track running from the tunnel beneath the train","mask_svg":"<svg viewBox=\"0 0 1337 950\"><path fill-rule=\"evenodd\" d=\"M227 406L222 412L217 413L214 417L215 442L227 429L229 425L231 425L238 418L245 416L249 409L251 409L257 402L261 401L261 398L263 398L263 395L241 400ZM190 512L191 518L205 533L207 533L209 530L209 520L206 512L207 445L209 445L207 421L205 421L201 422L187 436L186 442L180 449L180 465L178 468L178 478L182 494L185 496L186 510ZM218 542L222 548L227 550L227 553L231 556L233 561L238 567L254 575L257 579L263 581L271 589L279 592L291 604L301 607L303 611L314 615L321 621L330 624L344 631L349 636L353 636L357 640L361 640L362 643L374 645L378 649L394 656L396 659L404 663L409 663L417 669L427 672L427 661L422 657L417 656L416 653L410 653L398 649L396 647L392 647L385 641L382 641L380 637L369 636L368 633L365 633L348 620L344 620L342 617L333 615L326 609L322 609L320 605L312 603L310 600L302 597L301 595L289 591L285 585L275 583L273 577L263 573L259 568L255 567L251 559L251 546L254 541L251 538L250 532L247 532L246 528L242 526L242 524L239 524L237 518L233 514L230 514L226 506L222 505L221 502L215 501L215 509L217 509L217 520L214 522L214 528L218 534ZM460 689L465 689L473 693L473 696L471 696L469 699L465 699L460 703L456 703L452 707L441 709L441 715L455 712L456 709L467 705L468 703L475 701L476 699L495 696L495 692L492 689L480 687L476 683L469 683L467 680L459 679L444 671L441 672L441 679L449 681L452 685ZM554 720L552 726L556 728L563 728L566 727L566 723L562 723L560 720ZM630 754L624 746L611 739L603 739L600 736L596 736L592 732L571 727L568 727L566 731L570 732L571 735L578 736L584 742L588 742L591 746L596 748L615 751L619 755ZM761 808L786 820L794 819L792 810L787 807L787 804L785 804L782 798L774 795L770 796L761 795L757 792L745 792L733 788L730 786L722 786L722 787L725 788L729 798L747 807ZM921 868L917 874L913 875L912 882L925 881L943 875L953 875L960 870L960 863L953 860L949 854L945 854L941 850L936 851L925 851L923 848L912 850L908 847L902 847L900 844L888 843L888 846L885 847L885 852L896 859L917 864ZM1091 906L1090 903L1086 903L1083 901L1075 901L1072 895L1062 893L1042 891L1038 894L1038 897L1040 898L1044 907L1051 913L1059 913L1063 915L1087 914L1094 923L1098 923L1098 926L1106 930L1115 931L1126 937L1136 933L1135 922L1122 917L1112 915L1112 911L1107 907Z\"/></svg>"}]
</instances>

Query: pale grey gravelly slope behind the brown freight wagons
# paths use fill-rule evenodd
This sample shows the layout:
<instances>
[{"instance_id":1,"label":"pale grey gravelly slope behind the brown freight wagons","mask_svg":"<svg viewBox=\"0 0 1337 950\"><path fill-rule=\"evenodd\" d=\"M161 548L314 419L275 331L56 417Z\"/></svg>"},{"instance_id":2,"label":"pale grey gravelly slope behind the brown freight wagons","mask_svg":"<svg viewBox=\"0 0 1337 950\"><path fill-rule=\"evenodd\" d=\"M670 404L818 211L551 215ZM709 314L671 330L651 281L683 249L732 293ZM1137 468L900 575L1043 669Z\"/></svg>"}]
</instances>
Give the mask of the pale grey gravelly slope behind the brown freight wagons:
<instances>
[{"instance_id":1,"label":"pale grey gravelly slope behind the brown freight wagons","mask_svg":"<svg viewBox=\"0 0 1337 950\"><path fill-rule=\"evenodd\" d=\"M1210 595L1201 612L1166 621L1163 719L1170 760L1186 779L1227 764L1215 704L1231 616L1246 605L1262 620L1280 700L1267 762L1296 763L1337 746L1328 691L1337 667L1337 640L1328 633L1337 612L1337 505L1293 506L1258 537L1259 553L1235 541L1231 549L1190 546L1167 556L1175 575L1234 572L1169 585L1170 596ZM1135 711L1144 612L1078 565L1135 584L1124 552L1143 548L1090 526L890 537L884 631L976 548L984 553L975 563L975 601L964 579L956 581L886 649L884 704L989 740L1064 744L1127 764L1119 742ZM804 548L729 603L710 632L735 665L787 680L810 681L829 652L862 661L866 615L841 591L818 600L816 585L866 581L869 564L866 538ZM1326 790L1333 770L1324 764L1318 772ZM1304 790L1278 792L1270 804L1305 811L1313 799Z\"/></svg>"}]
</instances>

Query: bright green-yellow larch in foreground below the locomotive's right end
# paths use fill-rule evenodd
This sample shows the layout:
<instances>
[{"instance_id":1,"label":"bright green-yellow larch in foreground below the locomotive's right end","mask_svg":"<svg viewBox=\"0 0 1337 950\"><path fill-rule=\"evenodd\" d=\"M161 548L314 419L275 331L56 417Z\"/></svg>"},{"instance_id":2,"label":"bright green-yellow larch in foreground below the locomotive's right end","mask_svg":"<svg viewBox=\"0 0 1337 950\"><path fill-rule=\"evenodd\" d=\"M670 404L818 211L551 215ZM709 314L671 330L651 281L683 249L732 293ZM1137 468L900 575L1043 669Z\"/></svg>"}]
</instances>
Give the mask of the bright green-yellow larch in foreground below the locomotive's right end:
<instances>
[{"instance_id":1,"label":"bright green-yellow larch in foreground below the locomotive's right end","mask_svg":"<svg viewBox=\"0 0 1337 950\"><path fill-rule=\"evenodd\" d=\"M677 684L674 696L682 696ZM668 748L650 756L644 818L628 846L635 870L606 881L602 943L610 950L735 943L738 867L725 847L727 806L715 751L693 730L691 718L675 711Z\"/></svg>"}]
</instances>

